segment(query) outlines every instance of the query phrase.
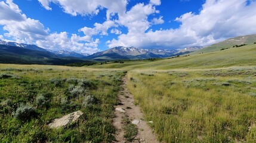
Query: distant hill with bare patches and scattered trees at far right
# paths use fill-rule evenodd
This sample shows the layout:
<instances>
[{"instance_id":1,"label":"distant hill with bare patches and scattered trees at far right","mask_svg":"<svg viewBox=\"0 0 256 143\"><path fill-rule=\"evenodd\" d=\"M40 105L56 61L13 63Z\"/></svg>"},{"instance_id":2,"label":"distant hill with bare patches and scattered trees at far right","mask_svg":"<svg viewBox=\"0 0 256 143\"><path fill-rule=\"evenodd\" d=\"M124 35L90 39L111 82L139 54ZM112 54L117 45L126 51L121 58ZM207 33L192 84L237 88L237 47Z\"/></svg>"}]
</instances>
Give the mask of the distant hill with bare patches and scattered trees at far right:
<instances>
[{"instance_id":1,"label":"distant hill with bare patches and scattered trees at far right","mask_svg":"<svg viewBox=\"0 0 256 143\"><path fill-rule=\"evenodd\" d=\"M203 53L203 52L220 51L220 49L232 48L235 45L242 45L242 44L251 45L254 42L256 42L256 35L239 36L236 38L227 39L226 41L223 41L220 43L215 43L215 44L208 46L206 48L203 48L203 49L199 49L198 51L193 52L193 54L199 54L199 53Z\"/></svg>"}]
</instances>

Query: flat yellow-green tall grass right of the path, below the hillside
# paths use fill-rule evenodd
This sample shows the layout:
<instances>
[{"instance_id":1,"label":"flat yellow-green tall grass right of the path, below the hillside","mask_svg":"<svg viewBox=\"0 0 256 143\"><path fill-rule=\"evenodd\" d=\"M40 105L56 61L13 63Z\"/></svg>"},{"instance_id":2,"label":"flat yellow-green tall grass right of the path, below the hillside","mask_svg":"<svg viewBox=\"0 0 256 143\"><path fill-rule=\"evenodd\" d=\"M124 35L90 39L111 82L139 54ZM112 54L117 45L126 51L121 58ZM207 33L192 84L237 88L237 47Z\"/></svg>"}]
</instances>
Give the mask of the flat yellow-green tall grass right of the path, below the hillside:
<instances>
[{"instance_id":1,"label":"flat yellow-green tall grass right of the path, below the hillside","mask_svg":"<svg viewBox=\"0 0 256 143\"><path fill-rule=\"evenodd\" d=\"M164 142L256 142L256 67L131 71L128 88Z\"/></svg>"}]
</instances>

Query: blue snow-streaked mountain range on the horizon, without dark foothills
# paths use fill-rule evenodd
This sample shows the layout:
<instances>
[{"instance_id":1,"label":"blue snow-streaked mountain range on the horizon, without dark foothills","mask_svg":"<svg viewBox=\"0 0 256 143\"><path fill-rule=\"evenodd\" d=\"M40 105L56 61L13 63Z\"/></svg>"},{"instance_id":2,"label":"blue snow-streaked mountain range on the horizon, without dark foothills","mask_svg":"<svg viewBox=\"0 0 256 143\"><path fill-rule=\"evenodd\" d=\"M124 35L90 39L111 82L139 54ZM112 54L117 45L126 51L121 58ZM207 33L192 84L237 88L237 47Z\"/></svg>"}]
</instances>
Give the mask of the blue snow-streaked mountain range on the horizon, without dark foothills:
<instances>
[{"instance_id":1,"label":"blue snow-streaked mountain range on the horizon, without dark foothills","mask_svg":"<svg viewBox=\"0 0 256 143\"><path fill-rule=\"evenodd\" d=\"M171 57L178 54L184 54L186 52L192 52L198 49L198 47L185 48L180 50L141 49L141 48L135 48L135 47L119 46L119 47L108 49L106 51L101 51L92 55L88 55L88 54L79 54L73 51L70 52L66 50L51 51L49 49L44 49L36 45L27 45L24 43L0 41L0 46L3 46L3 45L5 45L5 47L0 48L1 54L5 53L6 58L8 58L8 54L10 56L14 54L16 58L18 57L24 58L24 55L26 55L25 59L29 61L31 61L32 59L41 61L42 59L67 58L67 57L79 58L81 60L95 60L95 61L166 58L166 57ZM17 47L17 48L14 48L14 47ZM32 51L28 51L28 50L32 50ZM20 51L26 51L26 54ZM32 54L33 52L35 52L35 54ZM22 53L22 55L18 55L19 53ZM41 54L41 57L38 56L38 54Z\"/></svg>"}]
</instances>

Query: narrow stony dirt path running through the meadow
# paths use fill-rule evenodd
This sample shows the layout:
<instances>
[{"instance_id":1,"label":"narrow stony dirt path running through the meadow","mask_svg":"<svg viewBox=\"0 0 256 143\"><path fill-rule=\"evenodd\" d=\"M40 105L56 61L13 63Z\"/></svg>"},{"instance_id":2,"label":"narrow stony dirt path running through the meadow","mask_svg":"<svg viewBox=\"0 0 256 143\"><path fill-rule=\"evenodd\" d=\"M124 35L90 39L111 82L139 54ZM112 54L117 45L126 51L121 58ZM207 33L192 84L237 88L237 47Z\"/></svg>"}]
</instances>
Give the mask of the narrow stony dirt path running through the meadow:
<instances>
[{"instance_id":1,"label":"narrow stony dirt path running through the meadow","mask_svg":"<svg viewBox=\"0 0 256 143\"><path fill-rule=\"evenodd\" d=\"M122 90L119 92L119 105L115 107L115 119L113 125L116 127L116 140L117 142L125 142L124 138L124 123L122 123L122 117L128 116L129 120L138 127L138 135L132 142L146 142L146 143L158 143L156 135L152 133L149 125L143 119L143 113L138 105L134 105L134 97L128 92L127 89L127 77L123 78ZM137 123L136 123L137 122Z\"/></svg>"}]
</instances>

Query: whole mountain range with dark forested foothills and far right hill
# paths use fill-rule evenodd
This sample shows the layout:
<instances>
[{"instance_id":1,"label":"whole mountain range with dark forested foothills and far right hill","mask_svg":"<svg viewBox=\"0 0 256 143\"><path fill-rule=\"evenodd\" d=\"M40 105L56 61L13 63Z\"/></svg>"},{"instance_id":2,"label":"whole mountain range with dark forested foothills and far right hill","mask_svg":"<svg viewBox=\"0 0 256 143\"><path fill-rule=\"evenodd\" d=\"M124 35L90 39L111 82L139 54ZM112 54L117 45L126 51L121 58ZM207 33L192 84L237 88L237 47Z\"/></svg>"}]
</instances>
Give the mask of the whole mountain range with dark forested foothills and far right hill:
<instances>
[{"instance_id":1,"label":"whole mountain range with dark forested foothills and far right hill","mask_svg":"<svg viewBox=\"0 0 256 143\"><path fill-rule=\"evenodd\" d=\"M79 54L66 50L50 51L36 45L0 41L0 63L14 64L69 64L76 62L92 62L106 60L137 60L147 58L166 58L175 55L198 54L202 52L219 51L223 48L232 48L235 45L253 44L256 35L239 36L226 41L215 43L203 48L201 46L184 49L141 49L135 47L118 46L92 55Z\"/></svg>"}]
</instances>

